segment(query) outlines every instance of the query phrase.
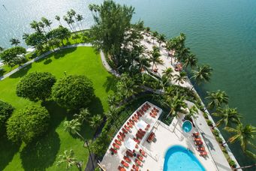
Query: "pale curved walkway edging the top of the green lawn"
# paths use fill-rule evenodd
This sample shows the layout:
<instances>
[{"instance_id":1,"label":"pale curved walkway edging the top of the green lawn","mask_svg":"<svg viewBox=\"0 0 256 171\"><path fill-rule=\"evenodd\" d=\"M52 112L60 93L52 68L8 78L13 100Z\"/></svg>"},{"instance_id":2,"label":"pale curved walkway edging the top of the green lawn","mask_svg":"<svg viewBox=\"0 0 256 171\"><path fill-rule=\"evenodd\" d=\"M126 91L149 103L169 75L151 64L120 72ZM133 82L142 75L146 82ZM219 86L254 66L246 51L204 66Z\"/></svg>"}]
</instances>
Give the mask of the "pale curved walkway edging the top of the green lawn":
<instances>
[{"instance_id":1,"label":"pale curved walkway edging the top of the green lawn","mask_svg":"<svg viewBox=\"0 0 256 171\"><path fill-rule=\"evenodd\" d=\"M8 74L5 74L4 76L0 77L0 81L5 80L7 77L10 77L12 74L16 73L17 71L20 71L21 69L26 68L27 65L30 65L33 62L36 62L39 59L44 58L47 55L52 54L53 52L56 52L56 51L61 50L61 49L68 49L68 48L79 47L79 46L92 46L92 44L91 43L77 43L77 44L72 44L72 45L68 45L68 46L58 47L54 50L50 50L48 52L45 52L44 54L38 55L38 57L33 58L29 62L26 62L24 65L21 65L19 68L16 68L13 71L9 72ZM112 68L110 68L110 65L108 65L108 63L105 59L105 56L104 56L104 52L101 51L100 55L101 55L101 61L102 61L102 64L104 65L104 68L106 68L106 70L108 72L110 72L111 74L115 75L116 77L119 77L119 74L116 73L116 71L114 71Z\"/></svg>"}]
</instances>

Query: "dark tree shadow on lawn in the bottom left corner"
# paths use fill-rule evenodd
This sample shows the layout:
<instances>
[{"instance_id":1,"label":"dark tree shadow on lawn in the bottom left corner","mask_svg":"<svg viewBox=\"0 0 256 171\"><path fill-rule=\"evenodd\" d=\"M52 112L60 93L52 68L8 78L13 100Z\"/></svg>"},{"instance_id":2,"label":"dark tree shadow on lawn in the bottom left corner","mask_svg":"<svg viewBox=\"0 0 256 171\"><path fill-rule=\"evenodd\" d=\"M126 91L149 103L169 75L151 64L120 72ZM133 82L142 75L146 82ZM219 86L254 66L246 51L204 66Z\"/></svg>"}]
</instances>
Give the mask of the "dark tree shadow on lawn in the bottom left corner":
<instances>
[{"instance_id":1,"label":"dark tree shadow on lawn in the bottom left corner","mask_svg":"<svg viewBox=\"0 0 256 171\"><path fill-rule=\"evenodd\" d=\"M5 166L8 165L9 162L14 157L14 154L16 154L19 151L20 144L14 144L11 141L8 140L6 136L1 136L0 141L0 170L4 170ZM5 157L4 157L5 156Z\"/></svg>"}]
</instances>

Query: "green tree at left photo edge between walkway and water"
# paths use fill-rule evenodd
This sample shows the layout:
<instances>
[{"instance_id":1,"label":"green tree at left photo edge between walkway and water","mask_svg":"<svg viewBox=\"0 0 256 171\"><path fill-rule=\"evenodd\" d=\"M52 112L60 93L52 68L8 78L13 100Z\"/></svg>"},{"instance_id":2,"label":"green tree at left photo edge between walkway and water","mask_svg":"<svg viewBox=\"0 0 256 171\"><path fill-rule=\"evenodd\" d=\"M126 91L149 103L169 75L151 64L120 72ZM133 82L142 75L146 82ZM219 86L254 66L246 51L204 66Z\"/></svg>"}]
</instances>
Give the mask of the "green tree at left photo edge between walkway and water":
<instances>
[{"instance_id":1,"label":"green tree at left photo edge between walkway and water","mask_svg":"<svg viewBox=\"0 0 256 171\"><path fill-rule=\"evenodd\" d=\"M20 64L19 59L22 58L23 54L26 53L26 49L21 46L14 46L9 49L5 49L0 53L0 58L5 62L6 65L13 67L14 65Z\"/></svg>"}]
</instances>

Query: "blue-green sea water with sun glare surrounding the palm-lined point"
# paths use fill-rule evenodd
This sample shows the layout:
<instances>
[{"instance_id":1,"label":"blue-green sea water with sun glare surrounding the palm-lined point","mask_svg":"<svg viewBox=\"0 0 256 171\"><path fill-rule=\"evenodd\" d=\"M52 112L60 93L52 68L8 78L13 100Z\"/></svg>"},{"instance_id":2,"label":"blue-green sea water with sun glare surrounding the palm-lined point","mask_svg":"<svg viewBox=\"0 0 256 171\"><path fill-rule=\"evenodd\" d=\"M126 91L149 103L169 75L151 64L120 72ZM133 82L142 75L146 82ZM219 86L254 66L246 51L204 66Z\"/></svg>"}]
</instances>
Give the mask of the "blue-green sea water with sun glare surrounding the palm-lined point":
<instances>
[{"instance_id":1,"label":"blue-green sea water with sun glare surrounding the palm-lined point","mask_svg":"<svg viewBox=\"0 0 256 171\"><path fill-rule=\"evenodd\" d=\"M242 122L256 126L255 0L118 1L135 7L134 21L143 20L146 26L169 38L184 32L187 46L200 64L209 64L214 69L211 83L197 88L200 95L204 97L206 91L217 89L227 92L230 107L237 107L242 113ZM32 20L47 17L57 26L55 15L63 16L71 8L83 14L83 25L89 28L93 21L88 5L92 2L102 1L1 0L0 46L9 47L12 37L21 39L24 32L32 31ZM237 147L230 145L239 163L251 163Z\"/></svg>"}]
</instances>

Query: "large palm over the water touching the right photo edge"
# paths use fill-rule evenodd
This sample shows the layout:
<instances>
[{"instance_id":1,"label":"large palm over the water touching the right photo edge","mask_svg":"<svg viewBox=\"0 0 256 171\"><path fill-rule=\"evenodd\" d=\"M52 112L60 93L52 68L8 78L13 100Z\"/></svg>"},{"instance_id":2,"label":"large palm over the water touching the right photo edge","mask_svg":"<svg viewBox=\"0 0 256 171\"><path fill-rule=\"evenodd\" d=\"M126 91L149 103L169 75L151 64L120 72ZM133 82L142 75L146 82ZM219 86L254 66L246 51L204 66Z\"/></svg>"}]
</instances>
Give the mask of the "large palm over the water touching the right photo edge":
<instances>
[{"instance_id":1,"label":"large palm over the water touching the right photo edge","mask_svg":"<svg viewBox=\"0 0 256 171\"><path fill-rule=\"evenodd\" d=\"M256 127L252 126L251 124L246 124L245 126L243 126L242 123L240 122L239 124L236 125L236 128L224 127L224 130L227 130L230 133L235 133L233 136L231 136L227 140L227 142L233 143L233 142L239 141L242 147L242 150L249 153L249 151L246 150L246 148L247 148L247 145L253 145L251 141L254 140ZM227 142L224 142L222 145L226 144Z\"/></svg>"}]
</instances>

